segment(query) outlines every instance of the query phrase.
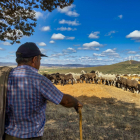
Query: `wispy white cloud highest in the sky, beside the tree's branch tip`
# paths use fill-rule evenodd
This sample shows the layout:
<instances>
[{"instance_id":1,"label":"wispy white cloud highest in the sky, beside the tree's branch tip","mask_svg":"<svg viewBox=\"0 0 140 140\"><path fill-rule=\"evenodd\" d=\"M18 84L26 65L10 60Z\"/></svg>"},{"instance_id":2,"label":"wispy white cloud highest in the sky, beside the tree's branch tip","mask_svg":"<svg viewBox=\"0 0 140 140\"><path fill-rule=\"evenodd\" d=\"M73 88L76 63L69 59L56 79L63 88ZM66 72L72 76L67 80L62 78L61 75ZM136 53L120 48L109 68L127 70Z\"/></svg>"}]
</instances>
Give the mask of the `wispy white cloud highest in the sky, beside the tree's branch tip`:
<instances>
[{"instance_id":1,"label":"wispy white cloud highest in the sky, beside the tree's branch tip","mask_svg":"<svg viewBox=\"0 0 140 140\"><path fill-rule=\"evenodd\" d=\"M67 6L61 9L60 7L57 8L58 12L65 13L68 16L78 17L79 14L76 11L71 11L72 8L74 8L75 5Z\"/></svg>"}]
</instances>

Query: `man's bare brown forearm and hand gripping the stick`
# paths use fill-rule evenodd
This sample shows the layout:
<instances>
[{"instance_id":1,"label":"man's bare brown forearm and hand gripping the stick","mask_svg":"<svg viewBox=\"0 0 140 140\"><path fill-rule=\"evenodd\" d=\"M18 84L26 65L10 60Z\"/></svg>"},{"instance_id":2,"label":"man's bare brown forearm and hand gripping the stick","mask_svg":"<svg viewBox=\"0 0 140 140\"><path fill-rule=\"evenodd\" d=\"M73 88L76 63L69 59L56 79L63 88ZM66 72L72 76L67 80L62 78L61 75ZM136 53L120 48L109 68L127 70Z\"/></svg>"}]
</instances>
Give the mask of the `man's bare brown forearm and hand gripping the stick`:
<instances>
[{"instance_id":1,"label":"man's bare brown forearm and hand gripping the stick","mask_svg":"<svg viewBox=\"0 0 140 140\"><path fill-rule=\"evenodd\" d=\"M69 95L69 94L64 94L63 98L60 102L60 105L64 106L64 107L74 107L75 110L78 113L78 108L79 107L83 107L83 104L81 102L79 102L76 98L74 98L73 96Z\"/></svg>"}]
</instances>

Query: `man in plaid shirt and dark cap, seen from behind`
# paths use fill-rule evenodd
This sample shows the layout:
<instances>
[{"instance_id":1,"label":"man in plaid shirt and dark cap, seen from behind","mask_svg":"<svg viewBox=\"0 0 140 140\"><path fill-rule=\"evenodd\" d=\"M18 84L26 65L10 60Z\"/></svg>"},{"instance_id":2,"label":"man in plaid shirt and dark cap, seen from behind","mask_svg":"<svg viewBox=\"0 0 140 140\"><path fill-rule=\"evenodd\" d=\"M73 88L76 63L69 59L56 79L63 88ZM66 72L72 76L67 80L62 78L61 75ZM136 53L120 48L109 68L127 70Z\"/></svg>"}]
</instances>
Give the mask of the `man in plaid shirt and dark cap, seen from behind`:
<instances>
[{"instance_id":1,"label":"man in plaid shirt and dark cap, seen from behind","mask_svg":"<svg viewBox=\"0 0 140 140\"><path fill-rule=\"evenodd\" d=\"M41 140L47 100L64 107L82 108L74 97L59 91L38 74L42 54L35 43L22 44L16 52L18 66L8 78L5 140Z\"/></svg>"}]
</instances>

